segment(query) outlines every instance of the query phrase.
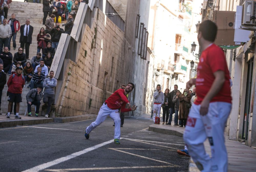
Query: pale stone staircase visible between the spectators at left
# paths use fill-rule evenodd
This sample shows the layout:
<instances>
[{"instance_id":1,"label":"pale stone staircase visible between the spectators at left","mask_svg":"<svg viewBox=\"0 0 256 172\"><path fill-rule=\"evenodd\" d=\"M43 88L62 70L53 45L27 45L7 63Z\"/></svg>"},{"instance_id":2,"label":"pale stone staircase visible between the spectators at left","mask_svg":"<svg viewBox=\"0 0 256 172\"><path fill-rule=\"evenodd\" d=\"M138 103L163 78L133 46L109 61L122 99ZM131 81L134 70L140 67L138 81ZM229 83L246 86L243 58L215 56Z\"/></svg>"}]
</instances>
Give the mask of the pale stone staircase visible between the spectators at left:
<instances>
[{"instance_id":1,"label":"pale stone staircase visible between the spectators at left","mask_svg":"<svg viewBox=\"0 0 256 172\"><path fill-rule=\"evenodd\" d=\"M11 18L11 15L14 13L14 14L16 14L16 18L19 20L20 25L25 24L26 19L29 18L30 25L34 27L32 44L30 45L30 48L29 48L30 59L32 59L33 56L36 56L37 34L39 33L40 28L44 27L44 25L42 25L42 19L44 17L42 8L43 8L42 4L13 1L10 4L10 8L8 10L8 19ZM49 16L47 18L49 18ZM20 38L20 31L18 31L17 37L16 37L16 44L17 44L16 50L13 50L13 43L11 41L10 52L12 53L13 56L14 56L14 53L16 53L18 51L18 48L20 47L19 38ZM30 61L30 60L27 60L27 61ZM7 76L7 81L9 79L9 77L10 76ZM26 108L27 108L26 94L30 90L30 88L27 88L27 86L28 86L28 84L25 85L25 87L23 88L23 91L22 91L22 102L20 103L20 109L19 109L19 114L21 114L21 115L24 115ZM8 101L7 101L8 97L6 96L7 90L8 90L8 87L7 87L7 84L5 84L4 89L3 89L2 104L1 104L1 113L3 113L3 114L6 113L8 110ZM41 101L39 115L41 115L42 105L43 105L43 102ZM35 113L34 108L32 108L31 110L32 110L32 113L34 114ZM11 118L14 118L13 113L14 112L12 112Z\"/></svg>"}]
</instances>

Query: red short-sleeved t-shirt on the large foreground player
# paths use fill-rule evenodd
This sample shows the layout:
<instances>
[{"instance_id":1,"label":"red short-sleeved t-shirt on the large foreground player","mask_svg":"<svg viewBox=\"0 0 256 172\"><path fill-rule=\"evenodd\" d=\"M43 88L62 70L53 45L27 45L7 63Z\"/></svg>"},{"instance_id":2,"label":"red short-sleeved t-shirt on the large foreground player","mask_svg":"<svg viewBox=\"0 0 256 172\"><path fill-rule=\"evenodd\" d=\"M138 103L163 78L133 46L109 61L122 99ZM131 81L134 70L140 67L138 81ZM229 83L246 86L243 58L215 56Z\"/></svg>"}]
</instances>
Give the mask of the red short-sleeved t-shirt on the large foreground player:
<instances>
[{"instance_id":1,"label":"red short-sleeved t-shirt on the large foreground player","mask_svg":"<svg viewBox=\"0 0 256 172\"><path fill-rule=\"evenodd\" d=\"M230 76L227 67L226 58L221 48L212 44L207 47L200 56L197 68L195 104L201 104L202 100L211 88L215 79L214 72L221 70L225 72L225 82L214 98L210 102L228 102L231 103Z\"/></svg>"}]
</instances>

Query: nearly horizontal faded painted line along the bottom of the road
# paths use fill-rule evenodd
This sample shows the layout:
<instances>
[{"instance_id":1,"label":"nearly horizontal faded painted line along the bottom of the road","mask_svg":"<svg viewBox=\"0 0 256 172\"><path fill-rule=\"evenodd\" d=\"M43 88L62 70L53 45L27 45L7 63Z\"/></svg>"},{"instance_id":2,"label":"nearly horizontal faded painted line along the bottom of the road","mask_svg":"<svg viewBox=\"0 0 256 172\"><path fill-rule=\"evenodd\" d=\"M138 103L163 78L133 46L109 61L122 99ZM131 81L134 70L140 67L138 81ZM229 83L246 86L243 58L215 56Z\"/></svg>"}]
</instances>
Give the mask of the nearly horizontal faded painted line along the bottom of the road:
<instances>
[{"instance_id":1,"label":"nearly horizontal faded painted line along the bottom of the road","mask_svg":"<svg viewBox=\"0 0 256 172\"><path fill-rule=\"evenodd\" d=\"M95 168L65 168L65 169L46 169L45 171L64 172L64 171L85 171L85 170L115 170L115 169L137 169L137 168L168 168L172 165L162 166L133 166L133 167L95 167Z\"/></svg>"}]
</instances>

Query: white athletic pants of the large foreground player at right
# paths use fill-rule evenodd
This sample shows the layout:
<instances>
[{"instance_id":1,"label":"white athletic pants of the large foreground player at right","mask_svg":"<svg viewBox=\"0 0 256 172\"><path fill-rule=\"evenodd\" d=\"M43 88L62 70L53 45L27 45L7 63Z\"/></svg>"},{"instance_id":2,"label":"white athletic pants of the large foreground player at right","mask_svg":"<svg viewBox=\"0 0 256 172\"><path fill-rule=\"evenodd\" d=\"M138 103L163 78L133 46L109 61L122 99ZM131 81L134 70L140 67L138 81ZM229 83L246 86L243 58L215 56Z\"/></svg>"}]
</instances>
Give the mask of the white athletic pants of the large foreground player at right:
<instances>
[{"instance_id":1,"label":"white athletic pants of the large foreground player at right","mask_svg":"<svg viewBox=\"0 0 256 172\"><path fill-rule=\"evenodd\" d=\"M201 116L199 110L200 105L193 104L188 115L183 135L188 152L199 170L226 172L228 171L228 156L223 133L231 103L212 102L205 116ZM210 142L211 158L205 152L206 138Z\"/></svg>"}]
</instances>

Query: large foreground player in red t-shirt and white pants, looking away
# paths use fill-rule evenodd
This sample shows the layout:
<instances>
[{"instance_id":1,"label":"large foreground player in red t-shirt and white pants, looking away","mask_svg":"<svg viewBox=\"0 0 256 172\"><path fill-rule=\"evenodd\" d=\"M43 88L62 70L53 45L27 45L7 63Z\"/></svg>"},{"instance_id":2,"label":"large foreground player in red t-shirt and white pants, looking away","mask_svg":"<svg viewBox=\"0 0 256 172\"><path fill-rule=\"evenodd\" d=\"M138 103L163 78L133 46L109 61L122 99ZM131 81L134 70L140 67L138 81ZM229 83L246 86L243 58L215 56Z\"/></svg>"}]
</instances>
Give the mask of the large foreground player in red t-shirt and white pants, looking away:
<instances>
[{"instance_id":1,"label":"large foreground player in red t-shirt and white pants, looking away","mask_svg":"<svg viewBox=\"0 0 256 172\"><path fill-rule=\"evenodd\" d=\"M228 171L224 130L231 110L231 80L226 58L215 41L217 26L205 20L199 26L198 42L202 48L197 78L187 82L186 89L196 84L197 99L191 107L183 139L189 154L201 171ZM211 158L205 152L209 139Z\"/></svg>"}]
</instances>

